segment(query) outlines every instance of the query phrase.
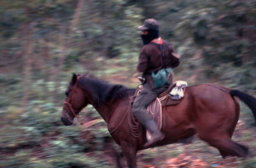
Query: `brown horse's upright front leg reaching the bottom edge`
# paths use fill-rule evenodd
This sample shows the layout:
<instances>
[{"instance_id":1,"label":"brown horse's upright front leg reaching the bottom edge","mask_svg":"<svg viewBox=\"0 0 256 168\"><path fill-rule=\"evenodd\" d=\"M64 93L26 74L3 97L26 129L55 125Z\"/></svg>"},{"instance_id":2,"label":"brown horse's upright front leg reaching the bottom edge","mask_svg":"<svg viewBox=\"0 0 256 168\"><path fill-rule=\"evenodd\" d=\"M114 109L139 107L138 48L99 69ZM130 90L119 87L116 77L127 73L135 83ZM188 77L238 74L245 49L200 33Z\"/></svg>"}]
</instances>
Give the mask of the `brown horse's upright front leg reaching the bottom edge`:
<instances>
[{"instance_id":1,"label":"brown horse's upright front leg reaching the bottom edge","mask_svg":"<svg viewBox=\"0 0 256 168\"><path fill-rule=\"evenodd\" d=\"M123 141L121 149L129 168L136 168L137 143Z\"/></svg>"}]
</instances>

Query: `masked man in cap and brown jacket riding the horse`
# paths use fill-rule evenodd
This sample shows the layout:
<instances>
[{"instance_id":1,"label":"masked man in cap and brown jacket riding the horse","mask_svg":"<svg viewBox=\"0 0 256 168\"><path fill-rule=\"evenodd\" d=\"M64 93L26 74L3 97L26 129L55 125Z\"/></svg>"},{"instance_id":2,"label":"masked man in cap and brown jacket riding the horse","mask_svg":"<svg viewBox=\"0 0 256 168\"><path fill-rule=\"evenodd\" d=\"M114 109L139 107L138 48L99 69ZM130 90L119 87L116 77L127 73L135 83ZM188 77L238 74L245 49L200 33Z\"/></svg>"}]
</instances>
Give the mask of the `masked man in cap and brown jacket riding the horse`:
<instances>
[{"instance_id":1,"label":"masked man in cap and brown jacket riding the horse","mask_svg":"<svg viewBox=\"0 0 256 168\"><path fill-rule=\"evenodd\" d=\"M142 31L140 36L144 46L140 51L137 70L142 72L145 82L134 100L132 111L152 135L151 140L144 145L144 148L147 148L162 140L164 134L158 130L146 108L170 86L168 74L180 64L180 57L173 52L170 43L159 36L159 24L156 19L146 19L144 24L138 28Z\"/></svg>"}]
</instances>

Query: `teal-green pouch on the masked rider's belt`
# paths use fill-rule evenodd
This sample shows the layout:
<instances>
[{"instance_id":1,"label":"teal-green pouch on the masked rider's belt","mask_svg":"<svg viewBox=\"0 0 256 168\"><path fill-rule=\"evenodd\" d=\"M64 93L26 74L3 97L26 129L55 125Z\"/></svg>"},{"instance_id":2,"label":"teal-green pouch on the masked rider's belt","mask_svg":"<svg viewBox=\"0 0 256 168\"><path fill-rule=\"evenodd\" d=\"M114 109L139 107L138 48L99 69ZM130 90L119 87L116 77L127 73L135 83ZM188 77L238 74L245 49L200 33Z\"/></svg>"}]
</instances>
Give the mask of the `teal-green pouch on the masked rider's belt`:
<instances>
[{"instance_id":1,"label":"teal-green pouch on the masked rider's belt","mask_svg":"<svg viewBox=\"0 0 256 168\"><path fill-rule=\"evenodd\" d=\"M155 88L159 88L168 82L168 74L172 71L172 68L160 69L157 73L152 72L152 80Z\"/></svg>"}]
</instances>

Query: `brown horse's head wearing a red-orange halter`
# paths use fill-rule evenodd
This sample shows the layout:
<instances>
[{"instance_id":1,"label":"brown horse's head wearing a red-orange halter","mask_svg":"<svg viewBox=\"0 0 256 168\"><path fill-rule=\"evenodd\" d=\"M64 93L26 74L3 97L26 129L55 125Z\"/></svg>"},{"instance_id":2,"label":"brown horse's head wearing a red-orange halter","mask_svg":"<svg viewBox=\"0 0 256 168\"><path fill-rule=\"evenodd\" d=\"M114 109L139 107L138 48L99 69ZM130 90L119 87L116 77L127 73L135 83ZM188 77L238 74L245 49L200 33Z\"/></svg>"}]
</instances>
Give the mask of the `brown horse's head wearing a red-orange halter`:
<instances>
[{"instance_id":1,"label":"brown horse's head wearing a red-orange halter","mask_svg":"<svg viewBox=\"0 0 256 168\"><path fill-rule=\"evenodd\" d=\"M60 117L65 126L71 126L73 119L77 117L78 113L88 104L84 90L78 84L80 77L80 75L76 76L76 74L73 74L65 92L66 98Z\"/></svg>"}]
</instances>

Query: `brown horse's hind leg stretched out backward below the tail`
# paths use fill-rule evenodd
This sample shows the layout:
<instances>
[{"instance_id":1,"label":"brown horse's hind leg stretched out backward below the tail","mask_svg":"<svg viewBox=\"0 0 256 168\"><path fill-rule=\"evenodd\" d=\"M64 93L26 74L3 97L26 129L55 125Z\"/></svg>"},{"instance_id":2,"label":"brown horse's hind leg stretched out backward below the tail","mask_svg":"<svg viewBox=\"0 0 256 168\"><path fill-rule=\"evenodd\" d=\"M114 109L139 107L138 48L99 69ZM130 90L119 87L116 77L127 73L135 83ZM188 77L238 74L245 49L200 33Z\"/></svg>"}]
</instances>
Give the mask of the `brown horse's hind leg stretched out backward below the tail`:
<instances>
[{"instance_id":1,"label":"brown horse's hind leg stretched out backward below the tail","mask_svg":"<svg viewBox=\"0 0 256 168\"><path fill-rule=\"evenodd\" d=\"M208 142L212 147L217 148L220 151L222 157L227 156L237 156L237 157L247 157L248 147L241 145L224 135L212 137L200 137L200 139Z\"/></svg>"}]
</instances>

